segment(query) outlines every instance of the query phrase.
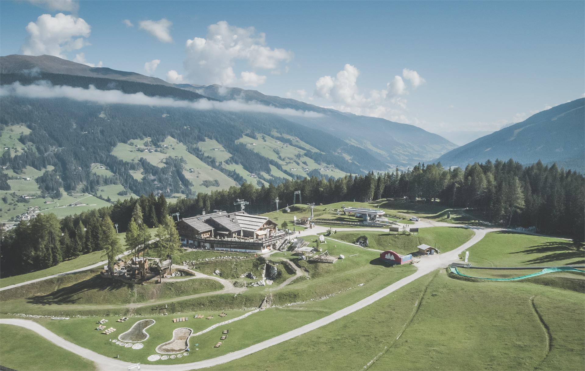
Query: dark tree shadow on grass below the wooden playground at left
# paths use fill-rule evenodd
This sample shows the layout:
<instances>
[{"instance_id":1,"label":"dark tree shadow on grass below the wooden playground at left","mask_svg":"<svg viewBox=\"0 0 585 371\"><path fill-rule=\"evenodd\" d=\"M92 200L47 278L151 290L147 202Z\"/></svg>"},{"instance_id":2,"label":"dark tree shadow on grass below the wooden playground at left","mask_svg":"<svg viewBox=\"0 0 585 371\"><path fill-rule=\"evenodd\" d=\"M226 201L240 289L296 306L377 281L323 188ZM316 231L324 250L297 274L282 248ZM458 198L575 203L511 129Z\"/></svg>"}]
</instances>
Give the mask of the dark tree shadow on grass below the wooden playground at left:
<instances>
[{"instance_id":1,"label":"dark tree shadow on grass below the wooden playground at left","mask_svg":"<svg viewBox=\"0 0 585 371\"><path fill-rule=\"evenodd\" d=\"M122 281L103 278L98 274L88 280L83 280L74 283L71 286L59 288L50 294L28 297L26 302L29 304L40 305L75 304L84 297L84 293L90 291L115 291L121 288L130 289L132 286L132 284Z\"/></svg>"}]
</instances>

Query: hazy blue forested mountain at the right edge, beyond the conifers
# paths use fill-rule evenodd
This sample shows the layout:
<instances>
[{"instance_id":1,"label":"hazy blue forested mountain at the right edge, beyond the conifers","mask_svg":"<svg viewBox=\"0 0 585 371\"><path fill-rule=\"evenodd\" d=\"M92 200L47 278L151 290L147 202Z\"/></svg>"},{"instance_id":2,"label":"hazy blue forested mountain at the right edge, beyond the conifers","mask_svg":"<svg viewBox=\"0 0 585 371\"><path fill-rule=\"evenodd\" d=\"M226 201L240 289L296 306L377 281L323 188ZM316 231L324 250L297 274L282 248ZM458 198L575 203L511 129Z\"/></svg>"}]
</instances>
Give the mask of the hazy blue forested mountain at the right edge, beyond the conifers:
<instances>
[{"instance_id":1,"label":"hazy blue forested mountain at the right edge, beyond the conifers","mask_svg":"<svg viewBox=\"0 0 585 371\"><path fill-rule=\"evenodd\" d=\"M559 167L585 172L585 98L539 112L522 122L443 154L444 166L466 166L486 160L523 164L541 160Z\"/></svg>"}]
</instances>

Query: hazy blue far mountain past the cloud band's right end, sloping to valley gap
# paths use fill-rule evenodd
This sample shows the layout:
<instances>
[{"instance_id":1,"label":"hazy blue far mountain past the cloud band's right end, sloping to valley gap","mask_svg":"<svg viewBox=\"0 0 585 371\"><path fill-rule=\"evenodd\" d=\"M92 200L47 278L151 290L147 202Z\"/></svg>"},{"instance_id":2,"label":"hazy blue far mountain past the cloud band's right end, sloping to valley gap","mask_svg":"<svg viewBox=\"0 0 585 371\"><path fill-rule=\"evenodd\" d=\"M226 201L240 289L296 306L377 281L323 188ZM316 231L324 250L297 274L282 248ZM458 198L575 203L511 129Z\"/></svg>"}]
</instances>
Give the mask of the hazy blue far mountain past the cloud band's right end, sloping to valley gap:
<instances>
[{"instance_id":1,"label":"hazy blue far mountain past the cloud band's right end, sloping to valley gap","mask_svg":"<svg viewBox=\"0 0 585 371\"><path fill-rule=\"evenodd\" d=\"M292 108L323 114L319 118L288 118L291 121L321 129L347 143L362 147L388 166L408 167L456 148L440 135L429 133L418 126L388 121L382 118L359 116L339 112L335 109L318 107L295 99L264 95L256 90L223 87L221 85L179 84L177 87L194 91L216 99L243 99L278 108Z\"/></svg>"}]
</instances>

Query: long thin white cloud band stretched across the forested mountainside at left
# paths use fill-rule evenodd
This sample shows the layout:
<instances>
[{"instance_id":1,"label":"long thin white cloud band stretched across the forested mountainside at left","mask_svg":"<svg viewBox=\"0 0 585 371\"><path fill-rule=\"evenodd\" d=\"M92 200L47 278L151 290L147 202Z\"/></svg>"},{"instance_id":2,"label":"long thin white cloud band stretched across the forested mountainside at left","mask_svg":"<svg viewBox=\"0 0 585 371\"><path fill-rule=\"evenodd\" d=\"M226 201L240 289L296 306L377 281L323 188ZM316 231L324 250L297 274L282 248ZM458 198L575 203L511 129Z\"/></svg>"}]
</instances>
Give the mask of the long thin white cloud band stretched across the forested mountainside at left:
<instances>
[{"instance_id":1,"label":"long thin white cloud band stretched across the forested mountainside at left","mask_svg":"<svg viewBox=\"0 0 585 371\"><path fill-rule=\"evenodd\" d=\"M75 88L66 85L53 86L46 83L46 81L32 85L21 85L18 81L11 85L2 85L0 87L0 97L7 95L35 99L67 98L74 101L95 102L97 104L147 105L154 107L191 108L197 110L219 109L221 111L260 112L306 117L322 116L322 114L318 114L317 112L298 111L297 109L291 108L276 108L261 105L256 102L239 100L209 101L207 99L198 99L197 101L178 101L173 98L148 97L147 95L144 95L143 92L125 94L119 90L97 90L93 85L90 85L90 88L88 89Z\"/></svg>"}]
</instances>

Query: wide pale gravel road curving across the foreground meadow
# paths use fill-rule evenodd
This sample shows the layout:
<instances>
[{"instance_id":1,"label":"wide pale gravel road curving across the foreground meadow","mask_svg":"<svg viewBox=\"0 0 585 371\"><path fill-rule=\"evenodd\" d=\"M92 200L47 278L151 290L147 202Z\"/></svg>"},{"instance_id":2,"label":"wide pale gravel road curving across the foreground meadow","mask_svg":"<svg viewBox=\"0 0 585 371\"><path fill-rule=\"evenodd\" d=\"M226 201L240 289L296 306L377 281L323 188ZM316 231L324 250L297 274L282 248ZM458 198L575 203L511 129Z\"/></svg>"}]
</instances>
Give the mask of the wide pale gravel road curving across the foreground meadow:
<instances>
[{"instance_id":1,"label":"wide pale gravel road curving across the foreground meadow","mask_svg":"<svg viewBox=\"0 0 585 371\"><path fill-rule=\"evenodd\" d=\"M315 229L316 228L311 229L310 230L311 233L309 233L309 234L314 234ZM290 339L295 338L297 336L300 336L302 334L306 334L307 332L310 332L316 328L325 326L325 325L327 325L335 320L338 320L339 318L342 318L342 317L345 317L346 315L352 314L353 312L360 310L361 308L364 308L367 305L370 305L370 304L376 302L377 300L380 300L381 298L387 296L388 294L392 293L393 291L398 290L398 288L401 288L401 287L411 283L412 281L418 279L419 277L424 276L425 274L432 272L435 269L446 267L450 263L459 260L459 258L458 258L459 253L463 252L466 249L469 249L475 243L479 242L486 235L487 232L499 230L499 229L488 229L488 228L484 228L484 227L472 227L470 229L472 229L474 231L474 235L472 236L471 239L469 239L469 241L467 241L466 243L463 243L463 245L461 245L458 248L451 250L449 252L442 253L439 255L432 255L432 256L425 257L425 259L421 259L421 262L419 262L417 264L417 272L411 274L408 277L404 277L403 279L396 281L395 283L391 284L390 286L387 286L387 287L383 288L382 290L377 291L376 293L358 301L357 303L349 305L348 307L345 307L339 311L336 311L333 314L327 315L324 318L320 318L319 320L313 321L313 322L311 322L307 325L304 325L302 327L295 328L291 331L285 332L284 334L274 336L274 338L268 339L266 341L259 342L257 344L252 345L252 346L249 346L247 348L240 349L239 351L231 352L231 353L228 353L226 355L218 356L216 358L200 360L198 362L183 363L181 365L164 365L164 366L163 365L160 365L160 366L158 366L158 365L141 365L141 369L146 370L146 371L155 371L155 370L157 370L157 371L159 371L159 370L188 371L188 370L192 370L192 369L201 369L204 367L221 365L222 363L226 363L226 362L230 362L230 361L235 360L235 359L242 358L242 357L250 355L252 353L261 351L262 349L269 348L272 345L276 345L278 343L290 340ZM223 292L225 292L225 291L223 291ZM95 363L97 363L98 367L102 370L112 370L112 371L114 371L114 370L121 370L122 371L123 370L123 371L126 371L128 369L128 366L130 365L130 363L128 363L128 362L122 362L120 360L111 359L111 358L102 356L98 353L95 353L94 351L90 351L90 349L85 349L85 348L82 348L81 346L78 346L74 343L68 342L68 341L64 340L63 338L61 338L60 336L49 331L48 329L37 324L36 322L30 321L30 320L0 319L0 324L12 324L12 325L17 325L17 326L31 329L32 331L37 332L37 334L43 336L47 340L55 343L56 345L61 346L61 348L68 349L69 351L73 351L73 352L77 353L78 355L83 356L84 358L87 358L87 359L94 361Z\"/></svg>"}]
</instances>

